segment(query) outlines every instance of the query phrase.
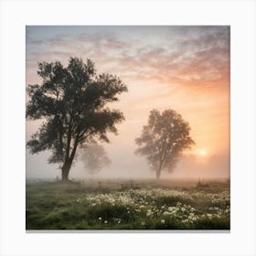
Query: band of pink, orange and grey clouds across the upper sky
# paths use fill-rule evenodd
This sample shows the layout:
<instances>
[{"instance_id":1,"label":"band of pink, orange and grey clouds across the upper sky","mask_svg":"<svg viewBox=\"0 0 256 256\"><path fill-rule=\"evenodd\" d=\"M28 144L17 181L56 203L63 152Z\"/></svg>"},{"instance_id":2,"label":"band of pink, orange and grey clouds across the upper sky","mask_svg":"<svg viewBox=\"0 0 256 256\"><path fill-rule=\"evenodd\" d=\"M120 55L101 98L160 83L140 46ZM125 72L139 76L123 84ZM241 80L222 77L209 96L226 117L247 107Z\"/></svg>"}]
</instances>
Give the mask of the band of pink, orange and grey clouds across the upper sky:
<instances>
[{"instance_id":1,"label":"band of pink, orange and grey clouds across the upper sky","mask_svg":"<svg viewBox=\"0 0 256 256\"><path fill-rule=\"evenodd\" d=\"M162 45L138 43L108 31L30 38L27 67L37 61L79 56L127 80L209 87L229 83L229 27L171 27L171 32L176 38L163 40Z\"/></svg>"}]
</instances>

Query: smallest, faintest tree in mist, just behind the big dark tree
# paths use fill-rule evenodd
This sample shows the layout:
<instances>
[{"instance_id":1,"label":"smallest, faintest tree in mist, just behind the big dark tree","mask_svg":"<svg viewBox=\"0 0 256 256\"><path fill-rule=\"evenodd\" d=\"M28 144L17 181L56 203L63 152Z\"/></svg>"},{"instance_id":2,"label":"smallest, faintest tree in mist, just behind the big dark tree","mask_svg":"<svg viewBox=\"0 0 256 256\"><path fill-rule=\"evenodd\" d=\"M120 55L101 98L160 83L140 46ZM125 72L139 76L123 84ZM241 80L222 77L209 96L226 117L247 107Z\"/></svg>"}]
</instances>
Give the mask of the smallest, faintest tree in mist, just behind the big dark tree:
<instances>
[{"instance_id":1,"label":"smallest, faintest tree in mist, just behind the big dark tree","mask_svg":"<svg viewBox=\"0 0 256 256\"><path fill-rule=\"evenodd\" d=\"M80 158L91 175L99 173L105 165L111 164L105 149L100 144L87 145Z\"/></svg>"}]
</instances>

